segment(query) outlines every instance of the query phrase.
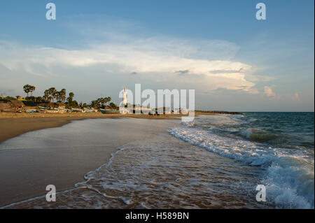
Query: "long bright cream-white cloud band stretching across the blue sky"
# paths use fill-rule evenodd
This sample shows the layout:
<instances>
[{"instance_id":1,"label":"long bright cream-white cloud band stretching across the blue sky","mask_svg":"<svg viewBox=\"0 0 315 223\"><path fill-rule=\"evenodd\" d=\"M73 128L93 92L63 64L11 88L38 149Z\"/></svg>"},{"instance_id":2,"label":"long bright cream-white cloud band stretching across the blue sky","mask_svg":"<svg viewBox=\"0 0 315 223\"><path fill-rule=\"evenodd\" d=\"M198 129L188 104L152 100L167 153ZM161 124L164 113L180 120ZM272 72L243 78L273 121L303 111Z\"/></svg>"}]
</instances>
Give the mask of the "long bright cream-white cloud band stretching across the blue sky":
<instances>
[{"instance_id":1,"label":"long bright cream-white cloud band stretching across the blue sky","mask_svg":"<svg viewBox=\"0 0 315 223\"><path fill-rule=\"evenodd\" d=\"M202 48L204 45L204 48ZM255 85L246 80L251 66L228 58L237 47L225 41L194 43L174 38L130 39L128 43L90 43L82 50L48 48L0 42L0 63L10 71L34 75L58 75L54 67L89 69L102 65L107 73L137 73L154 81L193 83L204 89L218 88L252 91ZM207 59L212 58L212 59ZM107 69L106 69L107 68ZM179 71L186 71L180 75ZM220 71L220 72L218 72Z\"/></svg>"}]
</instances>

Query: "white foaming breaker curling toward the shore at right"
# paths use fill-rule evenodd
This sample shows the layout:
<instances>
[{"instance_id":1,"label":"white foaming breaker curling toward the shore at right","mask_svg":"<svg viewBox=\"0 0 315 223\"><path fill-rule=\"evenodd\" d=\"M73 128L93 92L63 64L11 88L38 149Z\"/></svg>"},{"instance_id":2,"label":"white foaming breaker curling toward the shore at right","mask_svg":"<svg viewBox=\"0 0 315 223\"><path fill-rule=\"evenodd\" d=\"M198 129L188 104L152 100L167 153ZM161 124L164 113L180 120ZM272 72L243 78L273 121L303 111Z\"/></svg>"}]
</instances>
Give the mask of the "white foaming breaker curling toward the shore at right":
<instances>
[{"instance_id":1,"label":"white foaming breaker curling toward the shore at right","mask_svg":"<svg viewBox=\"0 0 315 223\"><path fill-rule=\"evenodd\" d=\"M262 184L267 188L268 201L277 208L314 208L314 159L305 159L302 151L293 154L292 150L218 136L198 128L174 127L169 134L210 152L264 168Z\"/></svg>"}]
</instances>

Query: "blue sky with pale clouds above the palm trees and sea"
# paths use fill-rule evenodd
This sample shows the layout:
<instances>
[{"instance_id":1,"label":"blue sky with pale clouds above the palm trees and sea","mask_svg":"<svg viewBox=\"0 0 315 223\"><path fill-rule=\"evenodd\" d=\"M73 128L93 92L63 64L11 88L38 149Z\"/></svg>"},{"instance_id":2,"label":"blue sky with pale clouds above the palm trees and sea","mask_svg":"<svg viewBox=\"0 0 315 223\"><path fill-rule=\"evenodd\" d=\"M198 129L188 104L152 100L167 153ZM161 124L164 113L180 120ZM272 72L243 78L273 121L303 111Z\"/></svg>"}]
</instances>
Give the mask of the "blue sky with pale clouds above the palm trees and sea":
<instances>
[{"instance_id":1,"label":"blue sky with pale clouds above the palm trees and sea","mask_svg":"<svg viewBox=\"0 0 315 223\"><path fill-rule=\"evenodd\" d=\"M314 1L1 1L0 93L120 103L137 83L195 89L202 110L314 111Z\"/></svg>"}]
</instances>

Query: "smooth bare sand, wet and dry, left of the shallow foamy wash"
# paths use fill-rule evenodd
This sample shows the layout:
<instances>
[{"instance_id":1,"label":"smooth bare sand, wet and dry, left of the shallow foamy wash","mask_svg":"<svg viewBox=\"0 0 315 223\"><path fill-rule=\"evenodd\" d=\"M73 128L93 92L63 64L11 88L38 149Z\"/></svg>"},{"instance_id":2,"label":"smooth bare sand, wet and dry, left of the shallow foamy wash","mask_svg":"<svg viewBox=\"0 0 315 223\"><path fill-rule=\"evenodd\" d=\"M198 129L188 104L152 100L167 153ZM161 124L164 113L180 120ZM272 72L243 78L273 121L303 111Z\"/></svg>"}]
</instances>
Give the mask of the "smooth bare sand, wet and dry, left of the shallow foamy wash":
<instances>
[{"instance_id":1,"label":"smooth bare sand, wet and dry, left of the shallow foamy wash","mask_svg":"<svg viewBox=\"0 0 315 223\"><path fill-rule=\"evenodd\" d=\"M31 120L34 125L27 127ZM1 128L8 125L17 129L15 125L19 123L30 131L56 127L71 120L73 117L2 119ZM179 123L175 120L97 119L91 132L85 131L85 121L91 120L30 131L1 143L0 206L44 195L46 185L50 184L56 186L57 192L73 188L87 172L107 163L116 148L156 136ZM103 124L103 130L106 125L106 130L98 131L99 124Z\"/></svg>"}]
</instances>

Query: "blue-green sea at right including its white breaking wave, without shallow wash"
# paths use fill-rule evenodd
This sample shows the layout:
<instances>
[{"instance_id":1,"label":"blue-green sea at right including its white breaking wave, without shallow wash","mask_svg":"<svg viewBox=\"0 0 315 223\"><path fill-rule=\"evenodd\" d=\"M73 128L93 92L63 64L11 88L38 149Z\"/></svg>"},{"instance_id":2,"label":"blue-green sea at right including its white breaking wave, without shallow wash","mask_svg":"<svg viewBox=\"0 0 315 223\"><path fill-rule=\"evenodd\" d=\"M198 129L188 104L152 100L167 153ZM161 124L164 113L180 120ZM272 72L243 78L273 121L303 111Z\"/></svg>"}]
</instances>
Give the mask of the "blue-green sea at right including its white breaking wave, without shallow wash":
<instances>
[{"instance_id":1,"label":"blue-green sea at right including its white breaking wave, without shallow wash","mask_svg":"<svg viewBox=\"0 0 315 223\"><path fill-rule=\"evenodd\" d=\"M314 208L314 113L200 116L169 134L260 168L275 208Z\"/></svg>"}]
</instances>

